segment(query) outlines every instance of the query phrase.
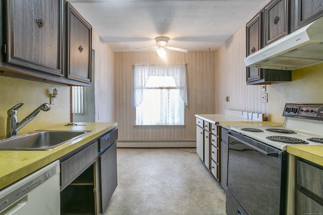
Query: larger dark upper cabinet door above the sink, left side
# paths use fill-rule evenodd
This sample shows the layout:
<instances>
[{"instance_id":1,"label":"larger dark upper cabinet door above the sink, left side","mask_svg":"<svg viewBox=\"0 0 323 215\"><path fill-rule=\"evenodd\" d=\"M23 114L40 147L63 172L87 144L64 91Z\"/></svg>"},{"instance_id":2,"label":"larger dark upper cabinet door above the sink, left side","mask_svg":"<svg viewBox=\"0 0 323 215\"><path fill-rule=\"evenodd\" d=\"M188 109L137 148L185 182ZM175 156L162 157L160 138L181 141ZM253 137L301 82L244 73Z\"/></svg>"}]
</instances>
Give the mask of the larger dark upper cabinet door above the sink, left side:
<instances>
[{"instance_id":1,"label":"larger dark upper cabinet door above the sink, left side","mask_svg":"<svg viewBox=\"0 0 323 215\"><path fill-rule=\"evenodd\" d=\"M5 67L64 76L63 1L7 0L4 9Z\"/></svg>"}]
</instances>

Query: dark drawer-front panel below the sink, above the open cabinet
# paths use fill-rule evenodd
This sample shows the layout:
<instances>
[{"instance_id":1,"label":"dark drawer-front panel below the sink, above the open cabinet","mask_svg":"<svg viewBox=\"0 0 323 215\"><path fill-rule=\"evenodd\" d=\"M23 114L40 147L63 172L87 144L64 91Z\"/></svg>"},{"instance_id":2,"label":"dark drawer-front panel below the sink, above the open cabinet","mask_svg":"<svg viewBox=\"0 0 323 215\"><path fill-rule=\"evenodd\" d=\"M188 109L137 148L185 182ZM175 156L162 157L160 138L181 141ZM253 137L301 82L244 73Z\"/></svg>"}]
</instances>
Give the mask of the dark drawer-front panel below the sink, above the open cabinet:
<instances>
[{"instance_id":1,"label":"dark drawer-front panel below the sink, above the open cabinet","mask_svg":"<svg viewBox=\"0 0 323 215\"><path fill-rule=\"evenodd\" d=\"M61 163L61 191L91 166L98 155L97 147L98 143L96 141Z\"/></svg>"}]
</instances>

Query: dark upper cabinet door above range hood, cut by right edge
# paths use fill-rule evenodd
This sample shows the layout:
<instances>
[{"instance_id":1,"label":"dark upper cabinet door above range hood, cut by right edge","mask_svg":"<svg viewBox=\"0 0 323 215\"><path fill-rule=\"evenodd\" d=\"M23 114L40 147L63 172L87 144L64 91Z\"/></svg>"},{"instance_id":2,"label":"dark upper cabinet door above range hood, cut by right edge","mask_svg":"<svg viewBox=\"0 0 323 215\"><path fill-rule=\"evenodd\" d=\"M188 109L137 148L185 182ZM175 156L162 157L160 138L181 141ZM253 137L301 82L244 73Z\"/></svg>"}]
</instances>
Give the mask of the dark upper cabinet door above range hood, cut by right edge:
<instances>
[{"instance_id":1,"label":"dark upper cabinet door above range hood, cut by right edge","mask_svg":"<svg viewBox=\"0 0 323 215\"><path fill-rule=\"evenodd\" d=\"M323 1L321 0L291 0L290 5L290 32L323 16Z\"/></svg>"}]
</instances>

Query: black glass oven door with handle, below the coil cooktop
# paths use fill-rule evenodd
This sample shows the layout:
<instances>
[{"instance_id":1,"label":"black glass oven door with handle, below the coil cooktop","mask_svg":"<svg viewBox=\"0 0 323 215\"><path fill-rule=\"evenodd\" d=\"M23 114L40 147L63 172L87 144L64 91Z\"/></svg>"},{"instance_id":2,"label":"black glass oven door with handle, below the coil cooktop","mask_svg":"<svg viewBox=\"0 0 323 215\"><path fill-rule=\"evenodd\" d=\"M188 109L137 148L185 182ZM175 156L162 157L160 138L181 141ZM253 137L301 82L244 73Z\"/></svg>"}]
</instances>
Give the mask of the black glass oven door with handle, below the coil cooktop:
<instances>
[{"instance_id":1,"label":"black glass oven door with handle, below the coil cooktop","mask_svg":"<svg viewBox=\"0 0 323 215\"><path fill-rule=\"evenodd\" d=\"M229 214L284 214L287 153L234 132L229 136Z\"/></svg>"}]
</instances>

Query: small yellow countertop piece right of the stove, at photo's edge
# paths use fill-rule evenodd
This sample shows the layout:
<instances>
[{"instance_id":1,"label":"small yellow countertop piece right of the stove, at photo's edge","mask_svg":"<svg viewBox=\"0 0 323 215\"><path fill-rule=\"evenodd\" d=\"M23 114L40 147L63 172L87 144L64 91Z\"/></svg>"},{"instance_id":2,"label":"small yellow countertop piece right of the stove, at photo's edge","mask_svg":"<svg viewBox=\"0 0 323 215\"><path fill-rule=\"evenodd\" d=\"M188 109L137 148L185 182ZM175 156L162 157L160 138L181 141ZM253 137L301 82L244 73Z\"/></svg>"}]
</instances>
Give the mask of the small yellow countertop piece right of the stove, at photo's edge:
<instances>
[{"instance_id":1,"label":"small yellow countertop piece right of the stove, at photo's edge","mask_svg":"<svg viewBox=\"0 0 323 215\"><path fill-rule=\"evenodd\" d=\"M323 145L287 146L287 152L307 161L323 166Z\"/></svg>"}]
</instances>

